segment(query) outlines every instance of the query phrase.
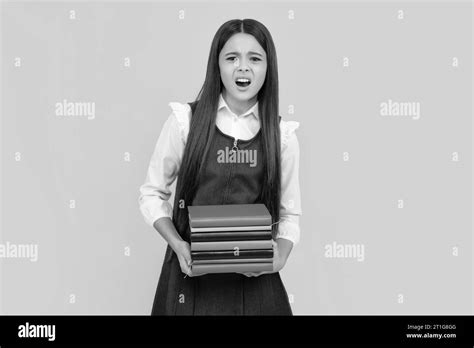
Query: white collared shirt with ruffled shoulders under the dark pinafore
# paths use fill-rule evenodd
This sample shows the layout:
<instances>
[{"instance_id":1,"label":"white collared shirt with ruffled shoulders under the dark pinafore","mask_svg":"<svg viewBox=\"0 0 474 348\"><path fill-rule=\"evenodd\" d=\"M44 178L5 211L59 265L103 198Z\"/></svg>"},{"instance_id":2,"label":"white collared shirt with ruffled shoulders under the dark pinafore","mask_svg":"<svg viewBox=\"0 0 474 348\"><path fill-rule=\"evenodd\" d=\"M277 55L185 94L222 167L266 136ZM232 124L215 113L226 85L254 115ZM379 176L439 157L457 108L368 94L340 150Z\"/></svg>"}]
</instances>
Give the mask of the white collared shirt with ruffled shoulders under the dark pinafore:
<instances>
[{"instance_id":1,"label":"white collared shirt with ruffled shoulders under the dark pinafore","mask_svg":"<svg viewBox=\"0 0 474 348\"><path fill-rule=\"evenodd\" d=\"M148 166L145 183L140 186L138 203L145 221L153 226L161 217L173 217L169 202L170 186L177 178L189 133L191 107L189 104L169 103L173 110L165 121ZM234 138L248 140L260 129L258 102L242 115L234 114L222 94L216 115L219 129ZM281 202L280 222L276 238L298 244L301 198L299 187L299 144L295 130L299 123L280 121L281 133Z\"/></svg>"}]
</instances>

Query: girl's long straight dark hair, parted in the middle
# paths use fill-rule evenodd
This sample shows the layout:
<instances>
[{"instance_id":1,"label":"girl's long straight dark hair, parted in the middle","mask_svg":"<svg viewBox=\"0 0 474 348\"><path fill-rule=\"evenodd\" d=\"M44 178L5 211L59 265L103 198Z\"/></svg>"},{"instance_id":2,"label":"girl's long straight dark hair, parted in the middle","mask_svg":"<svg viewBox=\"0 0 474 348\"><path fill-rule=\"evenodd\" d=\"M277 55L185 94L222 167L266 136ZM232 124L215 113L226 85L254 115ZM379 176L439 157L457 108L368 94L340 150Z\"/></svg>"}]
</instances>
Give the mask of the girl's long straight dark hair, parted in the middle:
<instances>
[{"instance_id":1,"label":"girl's long straight dark hair, parted in the middle","mask_svg":"<svg viewBox=\"0 0 474 348\"><path fill-rule=\"evenodd\" d=\"M175 204L173 219L180 234L185 233L187 206L192 205L204 161L209 152L215 132L215 116L219 104L219 94L223 89L219 70L219 53L229 38L237 33L250 34L258 41L267 55L265 82L258 92L258 112L260 117L264 178L259 202L266 205L273 222L280 219L280 126L278 110L278 66L275 45L268 29L253 19L233 19L224 23L212 40L207 63L206 79L196 97L195 110L191 117L189 134L178 174L175 199L184 200L185 209ZM194 106L194 105L193 105ZM181 201L182 202L182 201ZM273 225L276 233L277 224Z\"/></svg>"}]
</instances>

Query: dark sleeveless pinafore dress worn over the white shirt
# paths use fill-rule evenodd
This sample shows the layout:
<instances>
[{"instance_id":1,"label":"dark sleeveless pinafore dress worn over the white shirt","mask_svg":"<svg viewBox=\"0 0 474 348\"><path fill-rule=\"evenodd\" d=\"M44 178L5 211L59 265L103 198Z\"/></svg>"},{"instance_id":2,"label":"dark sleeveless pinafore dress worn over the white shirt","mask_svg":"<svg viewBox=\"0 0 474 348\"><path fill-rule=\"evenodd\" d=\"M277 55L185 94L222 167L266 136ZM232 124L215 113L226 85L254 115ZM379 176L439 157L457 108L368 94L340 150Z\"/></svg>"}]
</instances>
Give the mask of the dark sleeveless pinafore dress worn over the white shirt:
<instances>
[{"instance_id":1,"label":"dark sleeveless pinafore dress worn over the white shirt","mask_svg":"<svg viewBox=\"0 0 474 348\"><path fill-rule=\"evenodd\" d=\"M191 104L194 110L195 104ZM281 117L280 117L281 119ZM263 182L263 163L219 163L218 150L232 149L234 138L217 126L192 205L251 204L258 201ZM241 150L261 154L261 132L238 140ZM173 211L179 209L175 197ZM173 222L174 219L173 219ZM175 223L176 226L176 223ZM190 241L189 224L178 231ZM182 233L186 232L186 233ZM292 315L280 273L247 277L240 273L184 277L176 253L168 245L153 301L152 315Z\"/></svg>"}]
</instances>

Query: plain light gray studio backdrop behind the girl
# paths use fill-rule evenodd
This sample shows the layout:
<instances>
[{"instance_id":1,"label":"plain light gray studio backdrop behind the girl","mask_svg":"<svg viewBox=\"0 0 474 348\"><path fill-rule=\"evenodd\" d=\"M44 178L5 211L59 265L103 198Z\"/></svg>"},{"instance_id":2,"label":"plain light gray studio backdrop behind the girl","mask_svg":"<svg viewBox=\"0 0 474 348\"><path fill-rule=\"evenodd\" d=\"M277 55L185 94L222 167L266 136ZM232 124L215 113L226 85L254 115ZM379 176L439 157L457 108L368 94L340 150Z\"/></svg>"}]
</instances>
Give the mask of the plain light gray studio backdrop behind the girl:
<instances>
[{"instance_id":1,"label":"plain light gray studio backdrop behind the girl","mask_svg":"<svg viewBox=\"0 0 474 348\"><path fill-rule=\"evenodd\" d=\"M472 3L453 1L3 2L1 242L39 259L0 258L0 313L150 313L166 244L138 188L168 102L195 98L233 18L272 33L280 114L301 124L294 313L472 313ZM63 99L95 119L56 116ZM388 99L420 119L382 117ZM364 261L325 257L333 242Z\"/></svg>"}]
</instances>

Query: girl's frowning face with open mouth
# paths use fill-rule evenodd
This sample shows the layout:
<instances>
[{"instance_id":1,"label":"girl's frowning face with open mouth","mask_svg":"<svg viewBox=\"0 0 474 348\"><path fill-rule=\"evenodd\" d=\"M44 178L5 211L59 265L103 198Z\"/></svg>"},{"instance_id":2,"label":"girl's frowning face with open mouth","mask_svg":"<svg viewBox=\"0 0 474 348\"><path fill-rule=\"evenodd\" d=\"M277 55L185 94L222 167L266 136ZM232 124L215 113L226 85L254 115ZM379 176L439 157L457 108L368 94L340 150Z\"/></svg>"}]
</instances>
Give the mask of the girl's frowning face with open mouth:
<instances>
[{"instance_id":1,"label":"girl's frowning face with open mouth","mask_svg":"<svg viewBox=\"0 0 474 348\"><path fill-rule=\"evenodd\" d=\"M227 99L235 104L253 104L265 82L267 55L252 35L237 33L219 53L219 68Z\"/></svg>"}]
</instances>

